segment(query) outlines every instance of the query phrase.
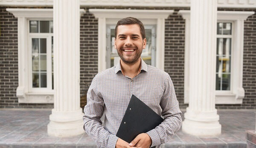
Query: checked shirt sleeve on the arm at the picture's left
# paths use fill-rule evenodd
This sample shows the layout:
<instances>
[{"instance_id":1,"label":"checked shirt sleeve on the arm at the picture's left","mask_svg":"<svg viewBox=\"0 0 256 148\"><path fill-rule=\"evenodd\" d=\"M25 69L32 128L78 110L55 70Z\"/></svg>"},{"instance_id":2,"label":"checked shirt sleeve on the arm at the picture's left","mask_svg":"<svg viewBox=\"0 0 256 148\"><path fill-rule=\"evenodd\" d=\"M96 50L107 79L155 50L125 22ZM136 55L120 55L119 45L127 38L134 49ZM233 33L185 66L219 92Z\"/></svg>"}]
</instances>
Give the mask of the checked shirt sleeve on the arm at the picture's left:
<instances>
[{"instance_id":1,"label":"checked shirt sleeve on the arm at the picture's left","mask_svg":"<svg viewBox=\"0 0 256 148\"><path fill-rule=\"evenodd\" d=\"M104 101L97 86L97 79L94 77L87 92L87 105L84 106L84 131L99 148L115 148L118 137L107 131L100 120L104 113Z\"/></svg>"}]
</instances>

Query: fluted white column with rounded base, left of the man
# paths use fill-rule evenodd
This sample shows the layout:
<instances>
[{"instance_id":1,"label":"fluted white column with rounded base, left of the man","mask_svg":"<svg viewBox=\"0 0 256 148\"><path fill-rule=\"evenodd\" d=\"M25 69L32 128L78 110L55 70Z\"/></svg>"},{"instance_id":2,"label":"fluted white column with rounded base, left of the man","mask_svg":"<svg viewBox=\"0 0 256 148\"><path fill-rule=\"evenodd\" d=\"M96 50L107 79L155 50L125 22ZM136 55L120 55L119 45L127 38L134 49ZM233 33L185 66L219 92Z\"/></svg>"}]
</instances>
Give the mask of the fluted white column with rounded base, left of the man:
<instances>
[{"instance_id":1,"label":"fluted white column with rounded base, left of the man","mask_svg":"<svg viewBox=\"0 0 256 148\"><path fill-rule=\"evenodd\" d=\"M79 0L53 1L54 108L48 134L58 137L84 133L80 108Z\"/></svg>"}]
</instances>

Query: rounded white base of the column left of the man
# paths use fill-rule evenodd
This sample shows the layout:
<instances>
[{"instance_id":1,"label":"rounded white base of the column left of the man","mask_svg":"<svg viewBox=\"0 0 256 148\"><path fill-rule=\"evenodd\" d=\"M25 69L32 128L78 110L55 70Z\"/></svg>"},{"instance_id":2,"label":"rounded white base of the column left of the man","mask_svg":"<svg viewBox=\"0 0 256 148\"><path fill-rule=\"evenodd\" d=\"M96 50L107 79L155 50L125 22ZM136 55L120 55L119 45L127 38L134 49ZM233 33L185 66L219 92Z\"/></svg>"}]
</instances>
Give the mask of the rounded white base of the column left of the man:
<instances>
[{"instance_id":1,"label":"rounded white base of the column left of the man","mask_svg":"<svg viewBox=\"0 0 256 148\"><path fill-rule=\"evenodd\" d=\"M82 108L76 111L55 111L52 109L47 125L49 136L69 137L84 133Z\"/></svg>"}]
</instances>

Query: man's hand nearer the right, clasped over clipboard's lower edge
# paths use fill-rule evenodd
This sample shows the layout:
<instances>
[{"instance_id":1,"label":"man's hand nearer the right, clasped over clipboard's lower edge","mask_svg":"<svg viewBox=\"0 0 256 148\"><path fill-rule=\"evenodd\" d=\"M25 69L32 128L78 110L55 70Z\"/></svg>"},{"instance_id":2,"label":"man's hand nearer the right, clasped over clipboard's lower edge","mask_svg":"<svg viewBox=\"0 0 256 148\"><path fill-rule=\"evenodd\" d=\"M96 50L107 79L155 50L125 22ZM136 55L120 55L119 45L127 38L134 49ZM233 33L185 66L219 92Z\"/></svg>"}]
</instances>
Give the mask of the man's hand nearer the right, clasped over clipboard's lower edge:
<instances>
[{"instance_id":1,"label":"man's hand nearer the right, clasped over clipboard's lower edge","mask_svg":"<svg viewBox=\"0 0 256 148\"><path fill-rule=\"evenodd\" d=\"M130 146L140 147L140 148L149 148L152 144L151 138L146 133L139 134L129 143Z\"/></svg>"}]
</instances>

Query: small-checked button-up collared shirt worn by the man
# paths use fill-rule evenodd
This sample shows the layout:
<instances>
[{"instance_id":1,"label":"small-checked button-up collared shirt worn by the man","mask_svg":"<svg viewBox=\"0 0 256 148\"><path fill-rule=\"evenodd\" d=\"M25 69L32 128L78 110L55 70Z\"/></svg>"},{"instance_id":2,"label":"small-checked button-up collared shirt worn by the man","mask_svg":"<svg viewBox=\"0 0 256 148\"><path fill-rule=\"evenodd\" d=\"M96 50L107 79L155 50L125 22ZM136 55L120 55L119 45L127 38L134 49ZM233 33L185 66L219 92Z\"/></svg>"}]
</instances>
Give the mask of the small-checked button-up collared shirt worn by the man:
<instances>
[{"instance_id":1,"label":"small-checked button-up collared shirt worn by the man","mask_svg":"<svg viewBox=\"0 0 256 148\"><path fill-rule=\"evenodd\" d=\"M169 74L141 60L140 73L131 79L122 74L118 63L97 74L87 92L84 130L99 148L115 148L116 133L132 94L164 117L160 125L147 132L151 146L160 148L180 129L181 111ZM100 120L104 111L105 127Z\"/></svg>"}]
</instances>

